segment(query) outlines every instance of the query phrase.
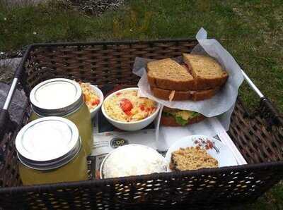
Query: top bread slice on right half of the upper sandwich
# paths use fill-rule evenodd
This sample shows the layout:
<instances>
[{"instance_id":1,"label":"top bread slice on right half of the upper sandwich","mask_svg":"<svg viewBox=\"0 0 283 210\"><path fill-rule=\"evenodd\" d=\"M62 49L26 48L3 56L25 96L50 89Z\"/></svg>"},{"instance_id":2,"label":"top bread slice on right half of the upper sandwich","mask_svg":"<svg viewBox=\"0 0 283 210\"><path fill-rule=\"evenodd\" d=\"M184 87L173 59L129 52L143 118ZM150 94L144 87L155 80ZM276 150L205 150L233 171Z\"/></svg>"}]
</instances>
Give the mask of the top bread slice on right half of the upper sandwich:
<instances>
[{"instance_id":1,"label":"top bread slice on right half of the upper sandwich","mask_svg":"<svg viewBox=\"0 0 283 210\"><path fill-rule=\"evenodd\" d=\"M183 54L183 61L195 79L195 89L211 89L223 85L228 73L212 57L199 54Z\"/></svg>"}]
</instances>

